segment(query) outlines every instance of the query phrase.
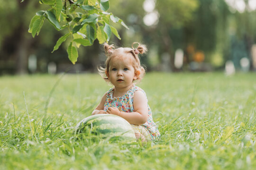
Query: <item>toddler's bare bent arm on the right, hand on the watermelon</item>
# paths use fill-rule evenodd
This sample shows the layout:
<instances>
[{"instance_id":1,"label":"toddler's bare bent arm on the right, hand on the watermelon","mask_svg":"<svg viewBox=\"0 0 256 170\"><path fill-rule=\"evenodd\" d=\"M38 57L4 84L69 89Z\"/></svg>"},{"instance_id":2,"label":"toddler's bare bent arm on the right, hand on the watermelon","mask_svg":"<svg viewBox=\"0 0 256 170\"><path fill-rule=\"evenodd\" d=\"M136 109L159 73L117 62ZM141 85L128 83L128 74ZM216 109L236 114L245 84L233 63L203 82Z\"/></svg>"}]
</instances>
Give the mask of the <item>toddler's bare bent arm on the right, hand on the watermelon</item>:
<instances>
[{"instance_id":1,"label":"toddler's bare bent arm on the right, hand on the watermelon","mask_svg":"<svg viewBox=\"0 0 256 170\"><path fill-rule=\"evenodd\" d=\"M148 117L147 100L145 94L139 90L134 93L133 108L134 112L127 113L119 111L115 107L109 107L107 112L126 119L130 124L142 125L146 123Z\"/></svg>"}]
</instances>

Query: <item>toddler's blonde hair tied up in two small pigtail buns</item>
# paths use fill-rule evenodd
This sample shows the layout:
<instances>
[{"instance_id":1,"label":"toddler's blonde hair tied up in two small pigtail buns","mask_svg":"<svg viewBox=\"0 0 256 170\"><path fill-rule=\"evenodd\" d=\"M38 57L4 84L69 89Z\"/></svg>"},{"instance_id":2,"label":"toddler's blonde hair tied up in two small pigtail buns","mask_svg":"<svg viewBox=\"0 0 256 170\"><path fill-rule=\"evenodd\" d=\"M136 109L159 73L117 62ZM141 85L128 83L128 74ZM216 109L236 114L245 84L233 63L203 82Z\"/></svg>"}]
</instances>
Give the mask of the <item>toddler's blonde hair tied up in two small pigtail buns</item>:
<instances>
[{"instance_id":1,"label":"toddler's blonde hair tied up in two small pigtail buns","mask_svg":"<svg viewBox=\"0 0 256 170\"><path fill-rule=\"evenodd\" d=\"M138 44L137 48L133 48L134 44ZM137 77L137 80L141 80L144 75L145 75L145 68L143 68L140 65L140 60L138 57L138 54L143 54L147 51L146 45L140 44L138 42L133 42L132 43L132 48L123 48L123 47L119 47L116 48L113 44L109 45L108 43L104 43L104 50L105 50L105 54L106 54L106 61L105 61L105 67L98 67L98 71L99 74L101 75L101 77L106 81L106 82L110 82L109 78L108 78L108 74L109 74L109 67L110 67L110 61L111 59L113 59L114 57L130 57L131 59L133 59L132 61L132 66L135 69L135 71L140 71L139 76Z\"/></svg>"}]
</instances>

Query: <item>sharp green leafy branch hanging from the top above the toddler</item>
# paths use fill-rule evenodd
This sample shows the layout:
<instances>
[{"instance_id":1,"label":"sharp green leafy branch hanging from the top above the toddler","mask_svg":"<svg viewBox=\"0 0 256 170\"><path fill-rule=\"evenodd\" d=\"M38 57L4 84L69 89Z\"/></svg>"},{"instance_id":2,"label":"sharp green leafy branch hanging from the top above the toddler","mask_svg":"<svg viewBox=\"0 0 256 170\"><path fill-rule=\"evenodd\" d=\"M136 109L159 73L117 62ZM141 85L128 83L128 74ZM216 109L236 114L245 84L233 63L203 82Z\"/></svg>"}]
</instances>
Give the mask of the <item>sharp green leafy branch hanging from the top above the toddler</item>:
<instances>
[{"instance_id":1,"label":"sharp green leafy branch hanging from the top above the toddler","mask_svg":"<svg viewBox=\"0 0 256 170\"><path fill-rule=\"evenodd\" d=\"M117 29L110 25L110 20L128 29L119 17L106 12L110 8L109 0L39 0L39 2L50 8L37 11L30 21L28 32L33 37L38 35L45 19L58 31L67 29L68 33L59 38L52 52L63 42L70 41L67 52L73 64L77 61L77 48L81 44L90 46L96 39L100 43L108 42L111 32L121 39Z\"/></svg>"}]
</instances>

